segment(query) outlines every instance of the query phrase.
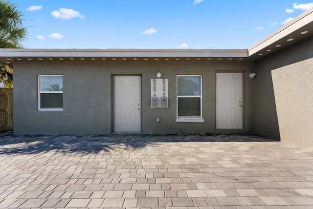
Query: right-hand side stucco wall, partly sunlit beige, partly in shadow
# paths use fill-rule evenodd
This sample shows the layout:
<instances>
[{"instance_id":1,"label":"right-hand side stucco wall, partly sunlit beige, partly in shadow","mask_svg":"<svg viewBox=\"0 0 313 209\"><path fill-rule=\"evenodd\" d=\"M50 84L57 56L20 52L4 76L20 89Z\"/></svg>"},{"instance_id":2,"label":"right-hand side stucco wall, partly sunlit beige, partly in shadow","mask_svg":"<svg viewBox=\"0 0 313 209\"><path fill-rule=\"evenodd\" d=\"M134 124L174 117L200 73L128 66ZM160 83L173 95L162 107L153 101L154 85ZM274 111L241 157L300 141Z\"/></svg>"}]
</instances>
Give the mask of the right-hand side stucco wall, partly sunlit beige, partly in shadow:
<instances>
[{"instance_id":1,"label":"right-hand side stucco wall, partly sunlit beige, partly in shadow","mask_svg":"<svg viewBox=\"0 0 313 209\"><path fill-rule=\"evenodd\" d=\"M313 149L313 38L256 63L255 131Z\"/></svg>"}]
</instances>

